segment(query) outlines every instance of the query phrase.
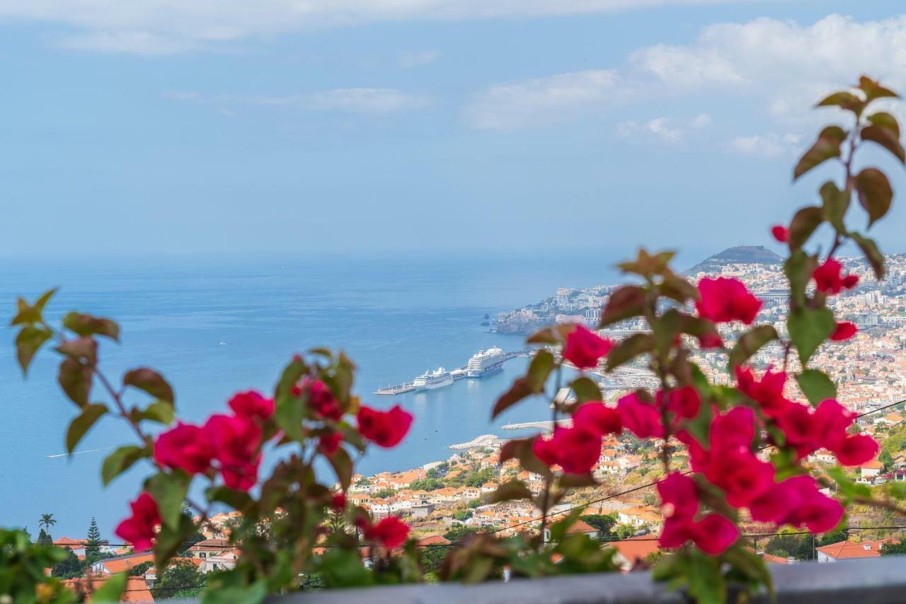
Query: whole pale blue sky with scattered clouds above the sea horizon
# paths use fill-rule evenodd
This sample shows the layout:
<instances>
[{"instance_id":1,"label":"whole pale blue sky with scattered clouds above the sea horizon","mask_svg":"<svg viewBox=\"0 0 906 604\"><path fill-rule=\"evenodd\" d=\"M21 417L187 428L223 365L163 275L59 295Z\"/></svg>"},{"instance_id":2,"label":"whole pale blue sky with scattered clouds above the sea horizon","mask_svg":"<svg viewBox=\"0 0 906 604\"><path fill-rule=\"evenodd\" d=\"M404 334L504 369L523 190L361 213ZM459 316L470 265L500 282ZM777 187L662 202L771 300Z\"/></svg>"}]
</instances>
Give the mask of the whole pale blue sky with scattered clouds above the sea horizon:
<instances>
[{"instance_id":1,"label":"whole pale blue sky with scattered clouds above the sea horizon","mask_svg":"<svg viewBox=\"0 0 906 604\"><path fill-rule=\"evenodd\" d=\"M838 174L791 186L809 106L906 90L898 8L0 0L0 255L768 244Z\"/></svg>"}]
</instances>

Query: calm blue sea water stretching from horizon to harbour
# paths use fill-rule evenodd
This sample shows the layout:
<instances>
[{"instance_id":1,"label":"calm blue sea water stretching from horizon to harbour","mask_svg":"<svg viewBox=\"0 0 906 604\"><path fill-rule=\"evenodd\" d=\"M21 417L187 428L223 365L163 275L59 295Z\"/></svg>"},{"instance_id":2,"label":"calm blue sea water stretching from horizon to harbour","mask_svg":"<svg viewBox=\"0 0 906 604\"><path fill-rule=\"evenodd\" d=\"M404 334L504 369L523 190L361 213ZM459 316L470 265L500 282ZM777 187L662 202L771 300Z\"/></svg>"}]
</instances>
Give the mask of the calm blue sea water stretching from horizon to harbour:
<instances>
[{"instance_id":1,"label":"calm blue sea water stretching from horizon to harbour","mask_svg":"<svg viewBox=\"0 0 906 604\"><path fill-rule=\"evenodd\" d=\"M370 474L444 458L449 445L481 434L513 434L499 430L509 422L544 419L538 401L490 420L496 396L524 369L521 359L494 377L459 380L429 393L388 398L371 392L425 369L464 365L493 344L519 349L521 337L487 333L480 325L485 313L493 317L535 302L558 286L613 278L600 255L7 262L0 264L0 318L8 322L15 296L34 299L46 287L60 286L49 316L78 309L120 321L121 344L103 343L102 367L114 379L138 365L159 369L177 390L178 415L192 421L225 408L237 390L270 390L294 352L345 350L360 368L356 389L365 402L390 407L398 401L415 415L402 445L372 450L362 460L361 472ZM55 383L54 354L43 353L23 379L13 337L7 329L0 345L0 526L24 525L35 534L40 514L53 513L54 536L77 537L94 515L111 536L147 468L133 468L103 489L99 468L106 452L48 458L63 453L76 408ZM79 448L128 442L120 422L106 419Z\"/></svg>"}]
</instances>

